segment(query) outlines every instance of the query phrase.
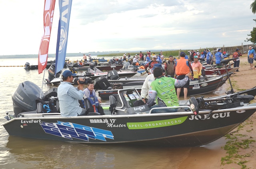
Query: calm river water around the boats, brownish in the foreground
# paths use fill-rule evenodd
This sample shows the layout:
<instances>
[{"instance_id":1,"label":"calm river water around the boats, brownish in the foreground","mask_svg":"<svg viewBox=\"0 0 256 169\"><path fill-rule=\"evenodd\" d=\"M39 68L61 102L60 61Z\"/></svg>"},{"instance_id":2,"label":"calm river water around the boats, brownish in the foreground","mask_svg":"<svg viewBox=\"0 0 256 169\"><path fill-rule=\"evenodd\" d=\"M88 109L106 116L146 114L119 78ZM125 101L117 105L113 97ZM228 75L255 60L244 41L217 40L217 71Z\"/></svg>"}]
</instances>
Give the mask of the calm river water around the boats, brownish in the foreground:
<instances>
[{"instance_id":1,"label":"calm river water around the boats, brownish in the foreground","mask_svg":"<svg viewBox=\"0 0 256 169\"><path fill-rule=\"evenodd\" d=\"M70 58L73 60L77 57ZM0 59L2 65L37 65L36 58ZM48 72L45 73L45 78ZM6 122L5 111L12 109L12 94L17 86L24 81L31 81L42 86L43 92L53 85L42 85L43 73L38 70L26 71L24 67L0 67L0 124ZM216 93L223 94L228 85L221 87ZM208 94L206 96L212 96ZM221 148L226 141L221 138L203 147L136 147L121 145L87 145L52 140L36 140L9 136L3 126L0 126L0 168L2 169L49 169L49 168L200 168L191 165L198 160L207 161L224 152ZM194 159L191 160L191 155ZM197 157L200 157L198 159ZM189 160L190 159L190 160ZM214 168L220 162L220 157L211 160L207 168ZM187 167L186 167L187 166ZM202 166L205 168L206 166Z\"/></svg>"}]
</instances>

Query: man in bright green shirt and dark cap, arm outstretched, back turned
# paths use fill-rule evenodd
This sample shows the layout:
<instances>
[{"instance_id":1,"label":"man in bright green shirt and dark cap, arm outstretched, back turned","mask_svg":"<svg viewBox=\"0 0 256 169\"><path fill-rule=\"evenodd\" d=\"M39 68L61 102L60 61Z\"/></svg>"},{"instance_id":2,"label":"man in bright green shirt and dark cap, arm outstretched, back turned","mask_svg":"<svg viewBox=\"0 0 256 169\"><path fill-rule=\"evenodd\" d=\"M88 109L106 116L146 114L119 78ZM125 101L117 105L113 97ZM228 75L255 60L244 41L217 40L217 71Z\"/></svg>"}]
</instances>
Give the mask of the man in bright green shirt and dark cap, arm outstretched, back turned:
<instances>
[{"instance_id":1,"label":"man in bright green shirt and dark cap, arm outstretched, back turned","mask_svg":"<svg viewBox=\"0 0 256 169\"><path fill-rule=\"evenodd\" d=\"M175 87L184 86L191 77L190 72L187 73L182 80L177 80L171 77L164 77L162 68L154 68L154 77L156 78L150 85L148 92L147 105L152 108L159 108L152 110L151 113L169 113L177 112L176 108L165 108L165 107L176 107L179 106L178 97L175 91ZM168 87L166 87L168 86ZM153 106L154 101L156 104ZM162 108L162 109L160 109Z\"/></svg>"}]
</instances>

